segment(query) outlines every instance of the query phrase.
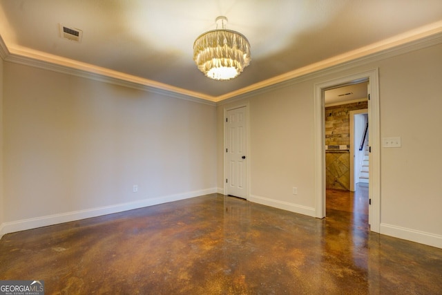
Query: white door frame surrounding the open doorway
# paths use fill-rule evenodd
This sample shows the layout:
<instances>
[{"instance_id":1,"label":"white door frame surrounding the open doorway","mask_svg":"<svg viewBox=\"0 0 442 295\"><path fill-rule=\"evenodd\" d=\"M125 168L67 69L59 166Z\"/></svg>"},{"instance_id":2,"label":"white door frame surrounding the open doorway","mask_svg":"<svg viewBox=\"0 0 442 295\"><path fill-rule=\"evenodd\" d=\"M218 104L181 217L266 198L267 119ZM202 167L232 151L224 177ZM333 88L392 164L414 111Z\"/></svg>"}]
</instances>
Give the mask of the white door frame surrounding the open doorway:
<instances>
[{"instance_id":1,"label":"white door frame surrounding the open doorway","mask_svg":"<svg viewBox=\"0 0 442 295\"><path fill-rule=\"evenodd\" d=\"M378 68L330 79L314 85L314 133L315 133L315 214L316 218L325 217L325 105L324 91L332 86L369 80L368 120L370 122L369 146L369 220L370 230L380 231L381 224L381 149L379 117Z\"/></svg>"}]
</instances>

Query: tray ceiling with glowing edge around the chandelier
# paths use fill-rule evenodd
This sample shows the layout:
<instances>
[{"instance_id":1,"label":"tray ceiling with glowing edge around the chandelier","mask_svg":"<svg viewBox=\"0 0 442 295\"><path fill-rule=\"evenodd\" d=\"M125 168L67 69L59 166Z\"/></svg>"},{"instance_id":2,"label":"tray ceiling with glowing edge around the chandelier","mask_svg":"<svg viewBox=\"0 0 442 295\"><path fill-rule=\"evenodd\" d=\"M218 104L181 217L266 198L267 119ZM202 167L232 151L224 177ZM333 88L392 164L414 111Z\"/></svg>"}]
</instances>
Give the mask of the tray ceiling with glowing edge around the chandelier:
<instances>
[{"instance_id":1,"label":"tray ceiling with glowing edge around the chandelier","mask_svg":"<svg viewBox=\"0 0 442 295\"><path fill-rule=\"evenodd\" d=\"M224 82L193 61L193 41L220 15L252 56ZM81 41L61 38L60 23ZM439 32L441 0L0 0L10 55L213 102Z\"/></svg>"}]
</instances>

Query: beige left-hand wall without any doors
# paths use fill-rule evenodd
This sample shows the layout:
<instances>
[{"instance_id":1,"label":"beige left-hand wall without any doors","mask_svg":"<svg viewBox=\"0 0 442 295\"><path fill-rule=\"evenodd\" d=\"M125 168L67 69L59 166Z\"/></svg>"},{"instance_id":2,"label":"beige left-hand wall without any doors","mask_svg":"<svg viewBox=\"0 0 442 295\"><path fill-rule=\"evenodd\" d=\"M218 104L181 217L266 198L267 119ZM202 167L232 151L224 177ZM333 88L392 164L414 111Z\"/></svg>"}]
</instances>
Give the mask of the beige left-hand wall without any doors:
<instances>
[{"instance_id":1,"label":"beige left-hand wall without any doors","mask_svg":"<svg viewBox=\"0 0 442 295\"><path fill-rule=\"evenodd\" d=\"M6 224L215 191L214 105L10 62L4 73Z\"/></svg>"}]
</instances>

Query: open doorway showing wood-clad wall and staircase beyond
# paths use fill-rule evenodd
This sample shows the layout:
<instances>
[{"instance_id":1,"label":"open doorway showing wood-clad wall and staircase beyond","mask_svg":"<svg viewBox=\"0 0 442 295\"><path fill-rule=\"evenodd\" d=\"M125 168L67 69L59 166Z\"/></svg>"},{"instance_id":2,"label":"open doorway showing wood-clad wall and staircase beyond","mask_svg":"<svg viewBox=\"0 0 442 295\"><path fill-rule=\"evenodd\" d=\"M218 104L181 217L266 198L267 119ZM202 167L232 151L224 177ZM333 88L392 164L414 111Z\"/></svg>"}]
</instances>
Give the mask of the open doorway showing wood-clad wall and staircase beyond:
<instances>
[{"instance_id":1,"label":"open doorway showing wood-clad wall and staircase beyond","mask_svg":"<svg viewBox=\"0 0 442 295\"><path fill-rule=\"evenodd\" d=\"M368 79L324 91L326 213L369 212Z\"/></svg>"}]
</instances>

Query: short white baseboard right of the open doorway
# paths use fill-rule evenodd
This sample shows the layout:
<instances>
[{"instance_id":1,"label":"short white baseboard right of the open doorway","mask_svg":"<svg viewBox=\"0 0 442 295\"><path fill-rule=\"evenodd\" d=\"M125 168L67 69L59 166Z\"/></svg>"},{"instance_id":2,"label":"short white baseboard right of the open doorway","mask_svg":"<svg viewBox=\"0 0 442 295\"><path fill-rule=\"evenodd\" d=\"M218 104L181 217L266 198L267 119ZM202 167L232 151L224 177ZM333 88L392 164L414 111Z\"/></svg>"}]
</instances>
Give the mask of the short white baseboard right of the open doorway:
<instances>
[{"instance_id":1,"label":"short white baseboard right of the open doorway","mask_svg":"<svg viewBox=\"0 0 442 295\"><path fill-rule=\"evenodd\" d=\"M425 231L416 231L414 229L407 229L405 227L397 227L396 225L387 225L381 223L379 234L393 236L394 238L401 238L403 240L410 240L412 242L419 242L424 245L442 248L442 236L430 234Z\"/></svg>"}]
</instances>

